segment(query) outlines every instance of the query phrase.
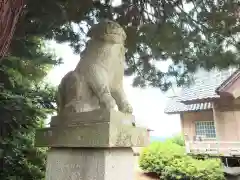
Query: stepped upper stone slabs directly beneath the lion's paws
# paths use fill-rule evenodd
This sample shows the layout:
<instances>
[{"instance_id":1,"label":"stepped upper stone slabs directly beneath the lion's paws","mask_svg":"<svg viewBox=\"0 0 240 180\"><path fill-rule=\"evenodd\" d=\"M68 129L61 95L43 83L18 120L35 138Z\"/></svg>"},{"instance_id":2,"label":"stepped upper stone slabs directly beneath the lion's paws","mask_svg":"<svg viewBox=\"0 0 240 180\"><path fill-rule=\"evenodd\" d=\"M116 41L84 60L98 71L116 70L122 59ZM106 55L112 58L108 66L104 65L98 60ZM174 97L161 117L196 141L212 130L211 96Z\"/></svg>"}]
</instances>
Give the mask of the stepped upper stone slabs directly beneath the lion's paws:
<instances>
[{"instance_id":1,"label":"stepped upper stone slabs directly beneath the lion's paws","mask_svg":"<svg viewBox=\"0 0 240 180\"><path fill-rule=\"evenodd\" d=\"M92 118L91 118L92 115ZM39 147L142 147L148 144L145 128L134 127L134 116L114 110L54 117L52 127L38 129ZM55 123L55 124L54 124Z\"/></svg>"}]
</instances>

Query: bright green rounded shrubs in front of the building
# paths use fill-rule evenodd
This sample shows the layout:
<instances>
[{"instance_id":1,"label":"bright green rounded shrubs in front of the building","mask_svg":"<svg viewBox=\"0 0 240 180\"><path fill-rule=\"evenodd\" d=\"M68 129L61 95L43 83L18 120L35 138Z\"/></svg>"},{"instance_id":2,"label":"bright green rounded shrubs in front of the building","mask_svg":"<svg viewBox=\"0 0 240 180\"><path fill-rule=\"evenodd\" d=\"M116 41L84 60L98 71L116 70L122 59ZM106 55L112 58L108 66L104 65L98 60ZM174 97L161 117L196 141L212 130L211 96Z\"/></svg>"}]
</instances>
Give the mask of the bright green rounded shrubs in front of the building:
<instances>
[{"instance_id":1,"label":"bright green rounded shrubs in front of the building","mask_svg":"<svg viewBox=\"0 0 240 180\"><path fill-rule=\"evenodd\" d=\"M140 167L162 180L224 180L218 159L197 160L171 141L153 143L140 155Z\"/></svg>"}]
</instances>

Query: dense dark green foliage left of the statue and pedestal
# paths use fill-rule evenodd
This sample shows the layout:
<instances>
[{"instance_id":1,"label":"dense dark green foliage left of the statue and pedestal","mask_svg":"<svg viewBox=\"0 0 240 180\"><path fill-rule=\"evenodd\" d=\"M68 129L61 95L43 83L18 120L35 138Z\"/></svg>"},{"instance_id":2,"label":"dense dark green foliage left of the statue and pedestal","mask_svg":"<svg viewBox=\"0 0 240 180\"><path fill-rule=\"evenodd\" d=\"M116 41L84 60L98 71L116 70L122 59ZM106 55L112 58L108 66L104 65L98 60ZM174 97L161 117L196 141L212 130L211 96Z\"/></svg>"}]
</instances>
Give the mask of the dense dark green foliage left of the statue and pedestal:
<instances>
[{"instance_id":1,"label":"dense dark green foliage left of the statue and pedestal","mask_svg":"<svg viewBox=\"0 0 240 180\"><path fill-rule=\"evenodd\" d=\"M40 37L22 42L28 48L12 48L0 64L1 180L43 179L45 150L34 147L34 133L55 110L55 89L42 79L59 60Z\"/></svg>"}]
</instances>

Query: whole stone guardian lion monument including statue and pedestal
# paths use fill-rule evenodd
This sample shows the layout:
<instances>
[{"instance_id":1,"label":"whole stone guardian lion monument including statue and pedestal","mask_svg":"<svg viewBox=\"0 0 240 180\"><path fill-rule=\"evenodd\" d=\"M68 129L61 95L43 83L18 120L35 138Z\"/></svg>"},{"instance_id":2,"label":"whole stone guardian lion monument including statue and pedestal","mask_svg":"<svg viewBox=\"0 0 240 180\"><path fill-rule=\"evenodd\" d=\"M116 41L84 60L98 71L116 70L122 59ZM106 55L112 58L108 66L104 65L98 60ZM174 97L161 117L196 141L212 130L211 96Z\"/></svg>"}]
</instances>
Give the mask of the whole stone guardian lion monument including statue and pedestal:
<instances>
[{"instance_id":1,"label":"whole stone guardian lion monument including statue and pedestal","mask_svg":"<svg viewBox=\"0 0 240 180\"><path fill-rule=\"evenodd\" d=\"M133 180L132 147L149 140L147 129L132 125L123 90L126 34L104 21L88 35L81 61L58 87L58 116L36 131L36 146L50 147L46 180Z\"/></svg>"}]
</instances>

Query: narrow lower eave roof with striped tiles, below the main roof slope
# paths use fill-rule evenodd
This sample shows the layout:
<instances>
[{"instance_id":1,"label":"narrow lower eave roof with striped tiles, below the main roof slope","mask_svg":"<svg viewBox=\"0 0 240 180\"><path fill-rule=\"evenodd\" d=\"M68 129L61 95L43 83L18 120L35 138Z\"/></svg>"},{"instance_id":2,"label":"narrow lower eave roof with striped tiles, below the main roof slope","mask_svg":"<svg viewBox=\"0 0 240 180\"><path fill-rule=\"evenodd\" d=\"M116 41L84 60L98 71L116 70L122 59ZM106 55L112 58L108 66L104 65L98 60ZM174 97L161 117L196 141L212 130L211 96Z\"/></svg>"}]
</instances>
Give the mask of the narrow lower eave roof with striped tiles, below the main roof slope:
<instances>
[{"instance_id":1,"label":"narrow lower eave roof with striped tiles, below the main roof slope","mask_svg":"<svg viewBox=\"0 0 240 180\"><path fill-rule=\"evenodd\" d=\"M209 110L212 109L211 102L197 103L197 104L183 104L179 101L178 97L171 97L164 110L167 114L175 114L180 112L190 112L198 110Z\"/></svg>"}]
</instances>

